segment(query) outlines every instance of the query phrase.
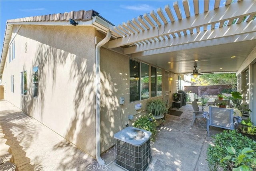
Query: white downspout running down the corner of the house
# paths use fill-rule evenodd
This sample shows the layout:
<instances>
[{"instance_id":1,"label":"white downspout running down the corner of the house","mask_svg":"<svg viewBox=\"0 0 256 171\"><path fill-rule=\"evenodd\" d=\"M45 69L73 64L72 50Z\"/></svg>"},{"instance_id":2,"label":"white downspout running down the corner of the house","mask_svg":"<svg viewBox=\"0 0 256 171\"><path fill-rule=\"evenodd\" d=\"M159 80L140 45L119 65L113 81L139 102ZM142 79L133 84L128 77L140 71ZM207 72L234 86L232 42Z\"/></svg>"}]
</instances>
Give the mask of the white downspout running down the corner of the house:
<instances>
[{"instance_id":1,"label":"white downspout running down the corner of the house","mask_svg":"<svg viewBox=\"0 0 256 171\"><path fill-rule=\"evenodd\" d=\"M99 165L105 162L100 157L100 48L111 38L110 30L107 31L106 37L96 45L95 62L96 62L96 159Z\"/></svg>"}]
</instances>

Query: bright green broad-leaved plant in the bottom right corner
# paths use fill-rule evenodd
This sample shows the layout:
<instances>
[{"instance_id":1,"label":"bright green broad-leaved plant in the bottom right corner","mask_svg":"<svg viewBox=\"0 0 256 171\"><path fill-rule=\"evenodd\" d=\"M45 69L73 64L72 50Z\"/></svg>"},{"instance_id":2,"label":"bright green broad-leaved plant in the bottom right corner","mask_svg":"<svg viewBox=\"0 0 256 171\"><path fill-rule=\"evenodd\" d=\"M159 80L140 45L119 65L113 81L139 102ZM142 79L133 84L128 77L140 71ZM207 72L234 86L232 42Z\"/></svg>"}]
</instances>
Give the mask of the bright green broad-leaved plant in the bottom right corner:
<instances>
[{"instance_id":1,"label":"bright green broad-leaved plant in the bottom right corner","mask_svg":"<svg viewBox=\"0 0 256 171\"><path fill-rule=\"evenodd\" d=\"M232 171L250 171L256 169L256 153L251 148L244 148L237 154L234 147L226 148L229 155L220 160L227 163ZM230 161L232 163L230 163Z\"/></svg>"}]
</instances>

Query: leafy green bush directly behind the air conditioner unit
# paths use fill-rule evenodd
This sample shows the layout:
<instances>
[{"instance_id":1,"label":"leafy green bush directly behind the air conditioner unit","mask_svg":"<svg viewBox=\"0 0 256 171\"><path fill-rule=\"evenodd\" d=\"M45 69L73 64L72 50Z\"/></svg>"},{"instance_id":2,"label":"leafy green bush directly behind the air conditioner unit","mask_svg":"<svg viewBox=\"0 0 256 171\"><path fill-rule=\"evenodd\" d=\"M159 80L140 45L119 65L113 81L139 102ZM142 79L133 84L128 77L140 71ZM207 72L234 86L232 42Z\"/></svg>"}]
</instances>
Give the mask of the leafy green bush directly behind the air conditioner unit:
<instances>
[{"instance_id":1,"label":"leafy green bush directly behind the air conditioner unit","mask_svg":"<svg viewBox=\"0 0 256 171\"><path fill-rule=\"evenodd\" d=\"M151 141L155 141L156 138L156 119L154 116L150 113L148 115L143 115L140 118L138 118L134 122L134 127L144 129L146 131L150 131L152 133Z\"/></svg>"}]
</instances>

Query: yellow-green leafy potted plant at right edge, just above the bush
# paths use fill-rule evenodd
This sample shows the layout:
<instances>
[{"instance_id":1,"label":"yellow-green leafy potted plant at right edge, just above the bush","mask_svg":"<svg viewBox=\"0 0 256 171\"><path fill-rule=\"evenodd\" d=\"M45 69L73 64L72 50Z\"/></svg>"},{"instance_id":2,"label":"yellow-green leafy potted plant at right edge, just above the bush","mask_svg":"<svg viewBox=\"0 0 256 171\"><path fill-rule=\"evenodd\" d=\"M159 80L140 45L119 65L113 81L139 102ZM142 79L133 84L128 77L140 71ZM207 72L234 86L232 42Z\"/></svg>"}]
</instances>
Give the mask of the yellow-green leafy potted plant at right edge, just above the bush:
<instances>
[{"instance_id":1,"label":"yellow-green leafy potted plant at right edge, just above the bush","mask_svg":"<svg viewBox=\"0 0 256 171\"><path fill-rule=\"evenodd\" d=\"M253 125L253 122L250 118L242 120L240 122L242 127L238 128L238 131L247 137L256 140L256 126Z\"/></svg>"}]
</instances>

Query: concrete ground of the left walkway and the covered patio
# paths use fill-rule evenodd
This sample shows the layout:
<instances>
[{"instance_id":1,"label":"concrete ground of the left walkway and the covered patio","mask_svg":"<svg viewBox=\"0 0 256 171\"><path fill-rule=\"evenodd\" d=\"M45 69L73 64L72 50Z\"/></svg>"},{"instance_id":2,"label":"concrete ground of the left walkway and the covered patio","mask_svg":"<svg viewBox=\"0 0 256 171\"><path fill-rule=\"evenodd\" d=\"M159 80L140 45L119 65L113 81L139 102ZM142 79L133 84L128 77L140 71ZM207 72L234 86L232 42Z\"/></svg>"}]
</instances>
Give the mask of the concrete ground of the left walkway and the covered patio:
<instances>
[{"instance_id":1,"label":"concrete ground of the left walkway and the covered patio","mask_svg":"<svg viewBox=\"0 0 256 171\"><path fill-rule=\"evenodd\" d=\"M0 101L0 107L0 125L19 171L123 170L114 164L114 148L102 154L106 165L99 167L96 159L8 101ZM207 137L206 119L191 126L192 105L179 110L183 111L180 117L166 115L164 126L158 129L148 171L209 170L206 151L213 139ZM220 131L223 129L211 127L210 135Z\"/></svg>"}]
</instances>

